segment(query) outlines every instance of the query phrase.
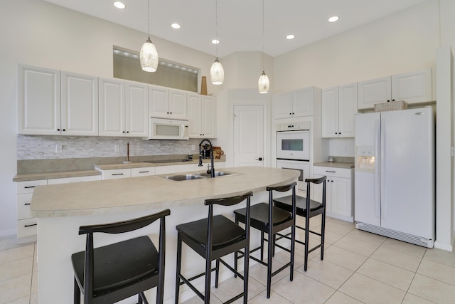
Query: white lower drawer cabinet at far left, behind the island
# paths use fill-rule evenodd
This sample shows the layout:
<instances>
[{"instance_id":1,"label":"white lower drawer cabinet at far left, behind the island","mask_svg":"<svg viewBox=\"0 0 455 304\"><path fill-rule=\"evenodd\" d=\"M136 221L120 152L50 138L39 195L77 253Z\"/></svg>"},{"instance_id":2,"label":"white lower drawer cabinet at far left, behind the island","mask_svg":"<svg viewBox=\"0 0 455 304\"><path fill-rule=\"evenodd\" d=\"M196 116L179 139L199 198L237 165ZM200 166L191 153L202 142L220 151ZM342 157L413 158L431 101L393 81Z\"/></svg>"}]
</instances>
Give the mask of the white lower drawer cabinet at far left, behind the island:
<instances>
[{"instance_id":1,"label":"white lower drawer cabinet at far left, behind the island","mask_svg":"<svg viewBox=\"0 0 455 304\"><path fill-rule=\"evenodd\" d=\"M100 175L88 177L65 177L60 179L38 179L27 182L17 182L17 238L28 241L28 237L36 238L36 217L30 212L33 189L47 184L65 184L71 182L89 182L100 180Z\"/></svg>"}]
</instances>

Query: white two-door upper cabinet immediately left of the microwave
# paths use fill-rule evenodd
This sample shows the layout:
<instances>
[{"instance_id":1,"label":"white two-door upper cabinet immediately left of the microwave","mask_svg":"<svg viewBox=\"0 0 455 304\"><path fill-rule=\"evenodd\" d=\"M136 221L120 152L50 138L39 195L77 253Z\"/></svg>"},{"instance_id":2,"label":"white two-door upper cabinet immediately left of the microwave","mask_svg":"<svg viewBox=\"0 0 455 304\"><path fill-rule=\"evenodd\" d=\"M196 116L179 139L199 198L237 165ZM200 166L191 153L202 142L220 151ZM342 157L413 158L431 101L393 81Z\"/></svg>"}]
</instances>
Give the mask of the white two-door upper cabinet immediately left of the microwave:
<instances>
[{"instance_id":1,"label":"white two-door upper cabinet immediately left of the microwave","mask_svg":"<svg viewBox=\"0 0 455 304\"><path fill-rule=\"evenodd\" d=\"M100 136L146 137L148 85L100 79Z\"/></svg>"}]
</instances>

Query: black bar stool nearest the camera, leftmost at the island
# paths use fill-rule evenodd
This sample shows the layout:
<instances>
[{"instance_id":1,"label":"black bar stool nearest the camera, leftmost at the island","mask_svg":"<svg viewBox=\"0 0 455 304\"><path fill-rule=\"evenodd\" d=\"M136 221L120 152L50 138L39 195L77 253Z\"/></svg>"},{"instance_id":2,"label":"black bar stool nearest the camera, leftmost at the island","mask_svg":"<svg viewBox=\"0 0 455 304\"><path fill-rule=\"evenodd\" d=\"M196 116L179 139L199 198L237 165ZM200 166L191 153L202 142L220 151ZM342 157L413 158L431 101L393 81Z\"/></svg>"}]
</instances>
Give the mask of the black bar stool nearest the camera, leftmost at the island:
<instances>
[{"instance_id":1,"label":"black bar stool nearest the camera, leftmost at the island","mask_svg":"<svg viewBox=\"0 0 455 304\"><path fill-rule=\"evenodd\" d=\"M138 219L110 224L80 226L79 234L87 234L85 251L73 253L75 273L74 303L115 303L138 295L138 303L148 303L144 291L156 287L156 303L163 303L164 256L166 225L169 209ZM160 220L159 251L149 236L93 248L93 234L122 234Z\"/></svg>"}]
</instances>

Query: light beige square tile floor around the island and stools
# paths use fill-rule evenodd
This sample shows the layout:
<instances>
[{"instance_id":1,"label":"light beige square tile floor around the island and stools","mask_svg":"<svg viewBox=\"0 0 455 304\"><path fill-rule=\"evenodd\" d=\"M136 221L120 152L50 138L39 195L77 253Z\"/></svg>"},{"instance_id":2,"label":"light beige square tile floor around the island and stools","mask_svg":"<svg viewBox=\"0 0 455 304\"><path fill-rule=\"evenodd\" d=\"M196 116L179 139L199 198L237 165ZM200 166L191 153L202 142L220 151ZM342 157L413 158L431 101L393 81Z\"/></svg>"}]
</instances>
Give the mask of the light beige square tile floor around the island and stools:
<instances>
[{"instance_id":1,"label":"light beige square tile floor around the island and stools","mask_svg":"<svg viewBox=\"0 0 455 304\"><path fill-rule=\"evenodd\" d=\"M315 229L318 220L311 219ZM301 231L298 237L303 239ZM317 241L312 236L310 245ZM370 234L331 218L326 221L323 261L319 251L311 253L305 272L302 249L296 246L294 281L289 281L289 271L277 275L269 299L265 267L251 266L248 303L455 303L455 253ZM288 253L280 251L274 264L287 259ZM0 304L38 303L37 267L36 243L19 246L14 239L0 239ZM222 303L241 290L240 279L223 281L212 289L211 303ZM186 303L202 301L194 297Z\"/></svg>"}]
</instances>

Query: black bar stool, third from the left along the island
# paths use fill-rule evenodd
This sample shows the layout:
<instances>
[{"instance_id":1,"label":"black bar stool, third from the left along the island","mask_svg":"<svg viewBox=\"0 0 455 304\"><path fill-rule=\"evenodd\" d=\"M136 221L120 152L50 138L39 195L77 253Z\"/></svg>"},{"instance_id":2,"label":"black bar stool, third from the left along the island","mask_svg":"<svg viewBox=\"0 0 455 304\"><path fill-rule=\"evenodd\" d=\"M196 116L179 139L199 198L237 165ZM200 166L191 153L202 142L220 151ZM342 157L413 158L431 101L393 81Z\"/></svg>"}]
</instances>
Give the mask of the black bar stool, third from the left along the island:
<instances>
[{"instance_id":1,"label":"black bar stool, third from the left along the island","mask_svg":"<svg viewBox=\"0 0 455 304\"><path fill-rule=\"evenodd\" d=\"M261 258L255 258L250 255L250 258L261 263L264 266L267 266L267 298L270 298L270 286L272 285L272 276L276 275L280 271L284 270L289 266L290 275L289 280L292 281L294 278L294 240L295 240L295 219L296 219L296 209L295 209L295 196L296 196L296 182L287 184L285 186L279 187L267 187L269 192L269 203L259 203L251 206L250 217L251 217L251 226L255 229L261 231L261 245L257 248L254 248L250 253L261 250ZM273 206L273 192L287 192L292 190L291 200L292 200L292 210L289 213L283 209ZM246 223L246 210L237 209L234 211L235 222ZM270 224L272 223L272 224ZM279 231L291 227L291 249L280 246L274 242L274 236ZM268 239L264 239L264 234L268 234ZM267 241L267 263L262 261L264 259L264 241ZM290 261L286 265L279 268L277 271L272 273L272 256L274 255L274 246L282 248L284 251L291 253ZM247 252L241 253L241 256L238 257L237 253L235 256L235 265L237 266L237 258L241 258L242 254L247 255Z\"/></svg>"}]
</instances>

